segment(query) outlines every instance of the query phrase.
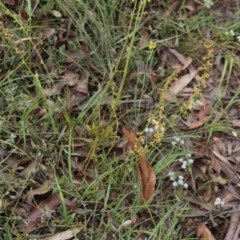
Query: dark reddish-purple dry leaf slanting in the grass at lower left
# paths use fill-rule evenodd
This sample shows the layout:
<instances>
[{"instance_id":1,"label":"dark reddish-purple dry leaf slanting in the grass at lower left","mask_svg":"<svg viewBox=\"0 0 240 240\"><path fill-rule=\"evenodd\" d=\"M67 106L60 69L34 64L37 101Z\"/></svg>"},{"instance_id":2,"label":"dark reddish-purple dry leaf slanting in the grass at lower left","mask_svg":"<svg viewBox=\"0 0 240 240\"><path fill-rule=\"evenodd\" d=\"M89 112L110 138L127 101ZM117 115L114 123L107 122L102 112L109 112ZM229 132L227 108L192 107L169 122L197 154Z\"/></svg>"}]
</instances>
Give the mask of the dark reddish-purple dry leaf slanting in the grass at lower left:
<instances>
[{"instance_id":1,"label":"dark reddish-purple dry leaf slanting in the grass at lower left","mask_svg":"<svg viewBox=\"0 0 240 240\"><path fill-rule=\"evenodd\" d=\"M46 209L53 211L58 207L60 202L61 200L57 193L52 194L48 199L40 202L27 218L26 232L30 233L37 227Z\"/></svg>"}]
</instances>

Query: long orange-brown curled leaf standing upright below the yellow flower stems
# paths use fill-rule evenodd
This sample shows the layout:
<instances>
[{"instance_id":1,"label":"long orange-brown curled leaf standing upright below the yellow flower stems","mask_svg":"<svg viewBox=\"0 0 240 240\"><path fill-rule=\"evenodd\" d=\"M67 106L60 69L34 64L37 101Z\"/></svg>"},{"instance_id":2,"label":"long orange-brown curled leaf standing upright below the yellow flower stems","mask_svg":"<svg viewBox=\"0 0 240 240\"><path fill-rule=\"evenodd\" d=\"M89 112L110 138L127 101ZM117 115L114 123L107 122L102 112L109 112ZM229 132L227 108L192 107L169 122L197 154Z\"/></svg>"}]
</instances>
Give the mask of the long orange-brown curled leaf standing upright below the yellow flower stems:
<instances>
[{"instance_id":1,"label":"long orange-brown curled leaf standing upright below the yellow flower stems","mask_svg":"<svg viewBox=\"0 0 240 240\"><path fill-rule=\"evenodd\" d=\"M155 193L156 174L146 157L143 155L143 153L141 153L140 150L142 146L136 140L135 135L126 127L123 127L122 130L124 135L128 139L131 149L136 154L138 160L138 169L142 183L142 198L143 201L148 201Z\"/></svg>"}]
</instances>

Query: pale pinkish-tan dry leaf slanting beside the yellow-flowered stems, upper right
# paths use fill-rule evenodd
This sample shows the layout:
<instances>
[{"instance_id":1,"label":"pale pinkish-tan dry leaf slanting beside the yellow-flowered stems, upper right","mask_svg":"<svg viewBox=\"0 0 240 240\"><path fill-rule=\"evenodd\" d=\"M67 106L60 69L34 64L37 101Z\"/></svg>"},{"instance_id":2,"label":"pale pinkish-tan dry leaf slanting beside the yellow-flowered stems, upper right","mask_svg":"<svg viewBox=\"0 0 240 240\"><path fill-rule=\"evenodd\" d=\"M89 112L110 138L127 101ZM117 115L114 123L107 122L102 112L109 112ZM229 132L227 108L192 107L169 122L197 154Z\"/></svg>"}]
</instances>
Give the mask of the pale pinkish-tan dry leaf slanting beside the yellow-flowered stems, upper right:
<instances>
[{"instance_id":1,"label":"pale pinkish-tan dry leaf slanting beside the yellow-flowered stems, upper right","mask_svg":"<svg viewBox=\"0 0 240 240\"><path fill-rule=\"evenodd\" d=\"M172 95L176 95L181 92L197 75L198 70L192 70L190 73L181 76L177 79L169 88L169 92Z\"/></svg>"}]
</instances>

